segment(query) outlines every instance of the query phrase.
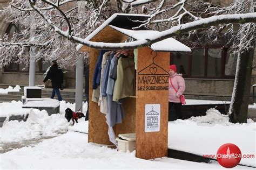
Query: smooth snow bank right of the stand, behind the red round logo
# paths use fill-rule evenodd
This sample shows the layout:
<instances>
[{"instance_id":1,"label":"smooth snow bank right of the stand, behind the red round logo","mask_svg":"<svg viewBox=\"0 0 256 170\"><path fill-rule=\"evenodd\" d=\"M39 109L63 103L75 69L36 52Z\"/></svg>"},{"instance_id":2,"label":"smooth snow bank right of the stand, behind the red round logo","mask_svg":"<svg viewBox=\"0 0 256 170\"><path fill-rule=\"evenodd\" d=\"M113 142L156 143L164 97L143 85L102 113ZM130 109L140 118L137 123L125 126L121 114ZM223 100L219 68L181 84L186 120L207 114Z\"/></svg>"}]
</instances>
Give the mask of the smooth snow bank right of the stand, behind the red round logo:
<instances>
[{"instance_id":1,"label":"smooth snow bank right of the stand, behind the red round logo","mask_svg":"<svg viewBox=\"0 0 256 170\"><path fill-rule=\"evenodd\" d=\"M178 119L169 122L168 147L173 150L203 154L216 154L226 143L237 145L242 154L256 154L256 123L231 123L228 117L214 108L207 110L206 116ZM240 164L256 167L255 158L242 158Z\"/></svg>"}]
</instances>

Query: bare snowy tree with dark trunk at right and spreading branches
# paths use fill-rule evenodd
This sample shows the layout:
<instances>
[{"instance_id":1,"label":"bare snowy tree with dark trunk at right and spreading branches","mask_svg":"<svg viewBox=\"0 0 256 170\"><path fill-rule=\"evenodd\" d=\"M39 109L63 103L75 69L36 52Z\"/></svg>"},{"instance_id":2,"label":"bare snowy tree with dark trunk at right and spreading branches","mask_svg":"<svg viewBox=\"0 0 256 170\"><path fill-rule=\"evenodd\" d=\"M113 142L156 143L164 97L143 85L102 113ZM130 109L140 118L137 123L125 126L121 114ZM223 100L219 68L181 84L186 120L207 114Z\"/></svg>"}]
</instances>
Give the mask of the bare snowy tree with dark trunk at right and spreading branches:
<instances>
[{"instance_id":1,"label":"bare snowy tree with dark trunk at right and spreading branches","mask_svg":"<svg viewBox=\"0 0 256 170\"><path fill-rule=\"evenodd\" d=\"M235 0L233 4L225 8L214 6L205 1L181 0L173 4L164 0L143 1L143 3L142 1L117 1L117 8L114 10L113 6L105 0L86 1L83 17L79 17L81 16L79 15L81 8L77 1L73 2L72 8L69 6L68 9L70 10L60 8L61 5L64 6L69 3L70 1L67 0L52 2L46 0L39 2L32 0L28 2L12 1L11 5L4 9L3 15L7 16L11 11L11 15L8 17L9 22L20 24L23 31L16 33L9 41L7 36L4 37L4 43L0 47L2 50L1 61L4 63L11 62L8 53L18 53L18 56L22 55L22 58L28 59L25 54L26 50L24 50L28 46L37 47L36 59L58 58L63 60L63 63L68 63L70 60L75 61L72 59L80 55L75 50L77 43L99 49L131 49L149 46L154 42L177 37L187 32L191 35L205 31L211 39L228 35L231 37L228 43L232 44L233 53L239 54L229 113L230 120L231 122L246 122L247 112L242 112L246 111L246 105L248 108L248 89L250 88L246 88L247 85L239 84L244 81L248 82L247 77L251 75L252 59L248 58L247 53L251 54L252 49L254 49L253 32L256 13L250 10L253 9L253 0ZM150 17L139 27L153 27L161 32L145 39L119 44L92 42L83 39L114 12L146 13ZM28 20L30 15L38 21L35 37L28 37L26 34L30 31ZM48 25L45 25L45 22ZM223 32L223 30L225 31ZM13 48L13 45L18 46L18 48ZM245 68L247 68L247 72L242 71ZM246 76L246 79L239 79L243 76ZM238 93L240 90L244 92ZM239 107L241 105L243 107Z\"/></svg>"}]
</instances>

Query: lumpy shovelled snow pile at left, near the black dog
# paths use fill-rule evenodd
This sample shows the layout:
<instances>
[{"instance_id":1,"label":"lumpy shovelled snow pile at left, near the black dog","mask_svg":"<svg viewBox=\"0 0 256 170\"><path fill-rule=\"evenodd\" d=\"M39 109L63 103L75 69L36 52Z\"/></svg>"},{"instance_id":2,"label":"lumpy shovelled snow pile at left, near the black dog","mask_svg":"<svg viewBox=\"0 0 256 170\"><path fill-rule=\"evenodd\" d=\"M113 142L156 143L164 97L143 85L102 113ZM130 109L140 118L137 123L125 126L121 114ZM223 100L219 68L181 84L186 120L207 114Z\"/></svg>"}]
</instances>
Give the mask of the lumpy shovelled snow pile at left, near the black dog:
<instances>
[{"instance_id":1,"label":"lumpy shovelled snow pile at left, near the black dog","mask_svg":"<svg viewBox=\"0 0 256 170\"><path fill-rule=\"evenodd\" d=\"M0 128L0 142L14 142L42 136L56 136L68 131L69 123L60 114L48 116L45 110L31 109L26 122L4 122Z\"/></svg>"}]
</instances>

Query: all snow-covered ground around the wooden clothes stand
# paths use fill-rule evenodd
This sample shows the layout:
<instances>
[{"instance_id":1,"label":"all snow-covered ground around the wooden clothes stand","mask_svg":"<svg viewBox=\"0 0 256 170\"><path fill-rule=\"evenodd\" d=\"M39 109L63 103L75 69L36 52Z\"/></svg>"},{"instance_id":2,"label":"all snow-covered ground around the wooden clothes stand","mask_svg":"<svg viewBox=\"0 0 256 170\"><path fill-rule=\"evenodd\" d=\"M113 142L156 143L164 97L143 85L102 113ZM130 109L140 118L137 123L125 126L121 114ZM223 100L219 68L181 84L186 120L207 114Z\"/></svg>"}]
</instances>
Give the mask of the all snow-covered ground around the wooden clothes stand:
<instances>
[{"instance_id":1,"label":"all snow-covered ground around the wooden clothes stand","mask_svg":"<svg viewBox=\"0 0 256 170\"><path fill-rule=\"evenodd\" d=\"M7 103L5 103L7 104ZM4 105L5 105L4 104ZM19 102L9 103L19 105ZM0 110L3 105L0 105ZM112 148L87 143L88 122L79 119L79 123L70 126L64 118L65 108L75 110L75 104L60 102L60 114L48 116L46 111L30 110L26 122L5 122L0 128L0 144L42 136L58 136L46 139L35 145L0 154L0 168L151 168L151 169L218 169L217 164L205 164L171 158L142 160L132 153L117 152ZM19 109L16 111L18 112ZM83 111L87 110L86 104ZM206 116L191 117L184 121L169 122L169 148L198 155L216 154L225 143L234 143L242 154L256 154L256 123L248 119L246 124L232 124L218 110L209 109ZM69 132L67 132L69 130ZM83 133L78 133L78 132ZM60 134L64 133L65 134ZM1 145L0 145L1 150ZM254 166L254 159L241 159L240 164ZM250 169L237 166L237 169Z\"/></svg>"}]
</instances>

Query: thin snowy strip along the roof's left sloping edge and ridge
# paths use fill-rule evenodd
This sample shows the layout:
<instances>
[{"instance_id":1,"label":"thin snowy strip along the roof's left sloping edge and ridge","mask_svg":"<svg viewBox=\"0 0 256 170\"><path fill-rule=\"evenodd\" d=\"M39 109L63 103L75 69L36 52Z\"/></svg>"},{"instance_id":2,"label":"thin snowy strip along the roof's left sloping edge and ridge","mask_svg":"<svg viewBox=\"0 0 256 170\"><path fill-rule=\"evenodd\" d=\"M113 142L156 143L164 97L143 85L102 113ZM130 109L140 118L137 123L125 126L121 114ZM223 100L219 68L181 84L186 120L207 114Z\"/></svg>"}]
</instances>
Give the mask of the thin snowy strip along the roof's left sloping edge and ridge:
<instances>
[{"instance_id":1,"label":"thin snowy strip along the roof's left sloping edge and ridge","mask_svg":"<svg viewBox=\"0 0 256 170\"><path fill-rule=\"evenodd\" d=\"M97 33L99 33L101 30L104 29L104 27L106 27L109 23L112 22L112 20L114 18L116 18L117 16L138 16L138 17L150 17L149 15L140 15L140 14L130 14L130 13L114 13L109 19L107 19L102 25L100 25L95 31L93 31L91 34L89 34L89 36L87 36L84 40L90 40L93 37L96 36ZM79 51L80 48L82 48L84 45L83 44L79 44L77 45L76 49L77 51Z\"/></svg>"}]
</instances>

